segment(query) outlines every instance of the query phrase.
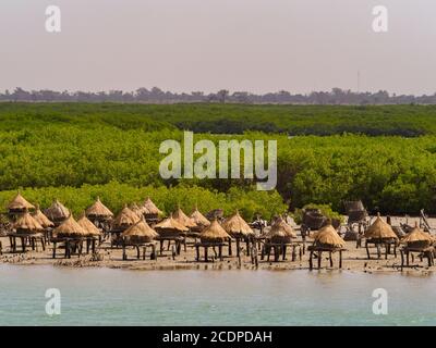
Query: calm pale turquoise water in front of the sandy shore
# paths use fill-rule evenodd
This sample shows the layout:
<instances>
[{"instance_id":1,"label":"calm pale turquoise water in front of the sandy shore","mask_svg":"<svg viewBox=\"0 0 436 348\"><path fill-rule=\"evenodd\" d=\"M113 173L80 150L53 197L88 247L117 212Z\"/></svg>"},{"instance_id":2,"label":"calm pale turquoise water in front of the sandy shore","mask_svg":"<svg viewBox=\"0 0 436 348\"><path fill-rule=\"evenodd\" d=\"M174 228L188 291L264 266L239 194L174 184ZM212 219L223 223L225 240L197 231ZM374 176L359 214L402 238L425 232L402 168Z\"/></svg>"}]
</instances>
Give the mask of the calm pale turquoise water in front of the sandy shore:
<instances>
[{"instance_id":1,"label":"calm pale turquoise water in front of the sandy shore","mask_svg":"<svg viewBox=\"0 0 436 348\"><path fill-rule=\"evenodd\" d=\"M388 291L374 315L372 293ZM46 314L47 288L61 314ZM1 325L435 325L436 276L0 266Z\"/></svg>"}]
</instances>

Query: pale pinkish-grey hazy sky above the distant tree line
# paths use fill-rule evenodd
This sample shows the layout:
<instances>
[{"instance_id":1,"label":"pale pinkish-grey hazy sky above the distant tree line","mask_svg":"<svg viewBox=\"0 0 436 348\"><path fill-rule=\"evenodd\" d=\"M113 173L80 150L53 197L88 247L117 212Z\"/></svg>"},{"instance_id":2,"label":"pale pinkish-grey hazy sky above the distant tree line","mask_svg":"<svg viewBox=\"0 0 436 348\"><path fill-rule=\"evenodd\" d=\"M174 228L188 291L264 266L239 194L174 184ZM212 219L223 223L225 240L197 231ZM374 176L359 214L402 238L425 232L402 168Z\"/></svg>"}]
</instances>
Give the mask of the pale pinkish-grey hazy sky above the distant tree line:
<instances>
[{"instance_id":1,"label":"pale pinkish-grey hazy sky above the distant tree line","mask_svg":"<svg viewBox=\"0 0 436 348\"><path fill-rule=\"evenodd\" d=\"M436 91L435 0L1 0L0 32L0 89Z\"/></svg>"}]
</instances>

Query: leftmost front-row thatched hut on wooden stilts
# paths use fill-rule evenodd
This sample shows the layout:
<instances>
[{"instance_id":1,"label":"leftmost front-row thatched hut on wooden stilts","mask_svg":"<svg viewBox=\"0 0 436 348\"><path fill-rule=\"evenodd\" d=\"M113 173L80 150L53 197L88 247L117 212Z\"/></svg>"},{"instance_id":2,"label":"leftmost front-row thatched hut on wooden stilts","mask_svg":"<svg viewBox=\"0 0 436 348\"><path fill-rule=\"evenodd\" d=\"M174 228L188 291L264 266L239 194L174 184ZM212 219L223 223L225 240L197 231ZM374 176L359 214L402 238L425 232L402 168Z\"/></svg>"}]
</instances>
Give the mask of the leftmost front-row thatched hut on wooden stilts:
<instances>
[{"instance_id":1,"label":"leftmost front-row thatched hut on wooden stilts","mask_svg":"<svg viewBox=\"0 0 436 348\"><path fill-rule=\"evenodd\" d=\"M44 227L26 211L22 213L12 225L15 232L9 234L12 252L16 251L16 238L20 238L23 252L26 251L26 243L29 241L35 250L37 241L40 241L45 250Z\"/></svg>"}]
</instances>

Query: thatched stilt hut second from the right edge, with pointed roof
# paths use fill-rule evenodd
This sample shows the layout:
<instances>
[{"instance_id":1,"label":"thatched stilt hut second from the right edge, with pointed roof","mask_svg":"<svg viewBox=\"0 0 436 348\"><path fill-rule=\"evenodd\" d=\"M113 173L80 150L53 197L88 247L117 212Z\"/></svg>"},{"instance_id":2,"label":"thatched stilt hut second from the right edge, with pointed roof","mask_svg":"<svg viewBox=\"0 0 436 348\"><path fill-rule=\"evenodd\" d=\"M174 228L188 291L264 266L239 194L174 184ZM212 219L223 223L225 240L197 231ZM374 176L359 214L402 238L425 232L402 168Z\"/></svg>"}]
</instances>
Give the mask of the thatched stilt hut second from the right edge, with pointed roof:
<instances>
[{"instance_id":1,"label":"thatched stilt hut second from the right edge, with pointed roof","mask_svg":"<svg viewBox=\"0 0 436 348\"><path fill-rule=\"evenodd\" d=\"M371 259L370 245L374 245L377 248L378 258L382 256L380 246L385 246L386 259L388 253L390 253L390 247L393 246L393 254L397 257L398 237L392 227L387 222L383 221L380 214L377 214L374 223L365 231L364 237L368 259Z\"/></svg>"}]
</instances>

